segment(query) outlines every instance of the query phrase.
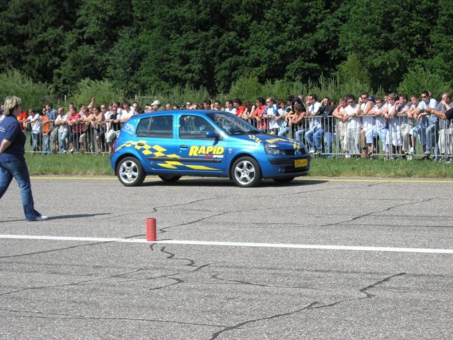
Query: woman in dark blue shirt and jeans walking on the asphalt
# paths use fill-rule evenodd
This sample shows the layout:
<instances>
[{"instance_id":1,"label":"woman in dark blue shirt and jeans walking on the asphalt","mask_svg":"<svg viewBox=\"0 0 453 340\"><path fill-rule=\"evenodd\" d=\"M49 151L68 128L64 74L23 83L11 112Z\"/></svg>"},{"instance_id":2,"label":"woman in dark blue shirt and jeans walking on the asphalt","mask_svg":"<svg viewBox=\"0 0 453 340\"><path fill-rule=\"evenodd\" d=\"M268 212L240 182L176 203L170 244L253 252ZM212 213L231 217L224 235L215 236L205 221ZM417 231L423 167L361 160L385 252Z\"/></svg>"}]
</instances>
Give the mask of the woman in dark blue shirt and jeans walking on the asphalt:
<instances>
[{"instance_id":1,"label":"woman in dark blue shirt and jeans walking on the asphalt","mask_svg":"<svg viewBox=\"0 0 453 340\"><path fill-rule=\"evenodd\" d=\"M13 180L17 181L22 197L24 214L28 221L45 221L47 216L35 210L29 169L25 162L25 134L20 128L17 116L22 112L22 100L8 96L5 111L0 117L0 199Z\"/></svg>"}]
</instances>

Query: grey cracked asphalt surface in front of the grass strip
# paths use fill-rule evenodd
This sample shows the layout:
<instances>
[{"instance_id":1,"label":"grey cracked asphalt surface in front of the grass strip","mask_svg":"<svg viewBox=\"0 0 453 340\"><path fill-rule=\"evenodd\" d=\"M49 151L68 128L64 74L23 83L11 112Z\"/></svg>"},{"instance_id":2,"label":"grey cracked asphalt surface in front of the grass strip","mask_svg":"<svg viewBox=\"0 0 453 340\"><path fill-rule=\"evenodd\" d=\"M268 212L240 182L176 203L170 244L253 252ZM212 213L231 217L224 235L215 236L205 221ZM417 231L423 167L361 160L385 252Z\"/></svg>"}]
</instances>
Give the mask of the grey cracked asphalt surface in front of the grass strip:
<instances>
[{"instance_id":1,"label":"grey cracked asphalt surface in front of the grass strip","mask_svg":"<svg viewBox=\"0 0 453 340\"><path fill-rule=\"evenodd\" d=\"M0 339L453 337L453 180L32 183L48 221L0 200Z\"/></svg>"}]
</instances>

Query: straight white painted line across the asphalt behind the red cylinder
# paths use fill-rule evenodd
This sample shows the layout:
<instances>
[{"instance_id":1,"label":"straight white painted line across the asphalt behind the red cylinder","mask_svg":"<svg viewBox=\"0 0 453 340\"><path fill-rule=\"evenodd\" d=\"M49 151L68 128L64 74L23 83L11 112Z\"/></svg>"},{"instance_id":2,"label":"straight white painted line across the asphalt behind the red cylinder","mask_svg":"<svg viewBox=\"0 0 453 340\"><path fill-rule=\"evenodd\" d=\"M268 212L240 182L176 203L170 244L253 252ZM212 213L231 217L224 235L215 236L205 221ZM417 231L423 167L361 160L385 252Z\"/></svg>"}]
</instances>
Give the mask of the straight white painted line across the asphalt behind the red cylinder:
<instances>
[{"instance_id":1,"label":"straight white painted line across the asphalt behind the red cylinder","mask_svg":"<svg viewBox=\"0 0 453 340\"><path fill-rule=\"evenodd\" d=\"M291 249L326 249L326 250L355 250L362 252L403 252L403 253L431 253L453 254L453 249L427 249L427 248L398 248L398 247L362 247L348 245L294 245L285 243L249 243L249 242L215 242L215 241L190 241L190 240L161 240L147 242L144 238L82 238L66 236L40 236L40 235L0 235L0 239L13 240L58 240L81 242L127 242L127 243L157 243L160 245L214 245L227 247L263 247L263 248L291 248Z\"/></svg>"}]
</instances>

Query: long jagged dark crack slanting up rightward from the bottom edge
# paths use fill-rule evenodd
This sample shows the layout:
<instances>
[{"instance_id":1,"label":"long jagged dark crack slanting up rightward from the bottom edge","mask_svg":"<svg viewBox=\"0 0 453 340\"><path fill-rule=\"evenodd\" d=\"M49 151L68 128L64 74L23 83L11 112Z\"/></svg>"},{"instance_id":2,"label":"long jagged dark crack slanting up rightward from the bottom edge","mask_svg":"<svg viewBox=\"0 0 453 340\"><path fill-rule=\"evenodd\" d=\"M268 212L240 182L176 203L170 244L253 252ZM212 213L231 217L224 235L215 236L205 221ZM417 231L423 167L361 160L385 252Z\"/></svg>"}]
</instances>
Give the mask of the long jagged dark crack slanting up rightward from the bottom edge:
<instances>
[{"instance_id":1,"label":"long jagged dark crack slanting up rightward from the bottom edge","mask_svg":"<svg viewBox=\"0 0 453 340\"><path fill-rule=\"evenodd\" d=\"M319 305L321 302L314 301L314 302L308 304L307 306L305 306L305 307L303 307L301 309L297 309L295 311L290 311L288 313L282 313L282 314L275 314L273 316L266 316L266 317L263 317L263 318L256 318L256 319L252 319L252 320L247 320L247 321L243 321L242 323L237 323L236 325L225 327L223 330L219 330L219 331L213 333L213 335L210 337L210 340L217 339L217 337L219 337L220 334L222 334L224 332L231 331L231 330L237 330L238 328L242 327L243 325L247 325L249 323L255 323L255 322L261 321L261 320L272 320L273 318L281 318L281 317L284 317L284 316L290 316L292 314L300 313L301 311L307 311L309 309L321 309L321 308L333 307L333 306L336 306L337 304L341 304L341 303L344 303L344 302L352 302L352 301L358 301L358 300L367 300L367 299L369 299L371 297L375 297L376 296L376 295L373 295L371 293L368 293L367 291L369 289L376 288L376 286L379 286L380 284L388 282L388 281L390 281L390 279L392 279L394 277L399 277L399 276L402 276L402 275L406 275L406 273L405 272L400 272L399 274L391 275L390 277L385 277L384 279L381 279L380 281L377 281L374 284L370 284L369 286L366 286L366 287L360 289L359 290L360 293L364 293L366 295L364 297L358 297L357 299L341 300L341 301L332 302L330 304L321 304L321 305Z\"/></svg>"}]
</instances>

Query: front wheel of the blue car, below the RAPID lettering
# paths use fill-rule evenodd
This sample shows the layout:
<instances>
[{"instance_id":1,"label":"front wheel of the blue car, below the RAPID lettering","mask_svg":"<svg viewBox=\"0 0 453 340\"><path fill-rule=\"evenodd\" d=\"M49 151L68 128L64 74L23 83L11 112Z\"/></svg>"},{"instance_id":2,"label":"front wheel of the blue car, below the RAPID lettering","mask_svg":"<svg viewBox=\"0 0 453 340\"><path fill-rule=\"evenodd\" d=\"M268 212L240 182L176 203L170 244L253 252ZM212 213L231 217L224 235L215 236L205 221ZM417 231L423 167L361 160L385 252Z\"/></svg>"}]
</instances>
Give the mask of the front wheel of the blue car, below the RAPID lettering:
<instances>
[{"instance_id":1,"label":"front wheel of the blue car, below the RAPID lettering","mask_svg":"<svg viewBox=\"0 0 453 340\"><path fill-rule=\"evenodd\" d=\"M252 157L240 157L231 167L231 178L239 187L256 187L261 183L261 169Z\"/></svg>"}]
</instances>

